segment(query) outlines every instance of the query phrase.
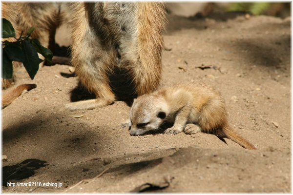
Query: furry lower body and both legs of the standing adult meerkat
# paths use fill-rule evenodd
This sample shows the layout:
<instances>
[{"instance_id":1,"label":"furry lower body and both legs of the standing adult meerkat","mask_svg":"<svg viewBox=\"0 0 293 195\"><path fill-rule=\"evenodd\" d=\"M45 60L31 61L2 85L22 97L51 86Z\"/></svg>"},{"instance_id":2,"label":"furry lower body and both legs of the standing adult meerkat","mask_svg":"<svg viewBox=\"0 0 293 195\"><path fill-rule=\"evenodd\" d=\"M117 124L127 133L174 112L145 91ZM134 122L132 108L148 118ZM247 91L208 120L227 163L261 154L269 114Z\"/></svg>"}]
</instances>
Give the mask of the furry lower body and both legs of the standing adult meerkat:
<instances>
[{"instance_id":1,"label":"furry lower body and both legs of the standing adult meerkat","mask_svg":"<svg viewBox=\"0 0 293 195\"><path fill-rule=\"evenodd\" d=\"M138 96L151 93L161 78L164 3L76 2L71 6L72 64L96 99L68 103L65 109L93 109L114 102L108 74L125 68Z\"/></svg>"}]
</instances>

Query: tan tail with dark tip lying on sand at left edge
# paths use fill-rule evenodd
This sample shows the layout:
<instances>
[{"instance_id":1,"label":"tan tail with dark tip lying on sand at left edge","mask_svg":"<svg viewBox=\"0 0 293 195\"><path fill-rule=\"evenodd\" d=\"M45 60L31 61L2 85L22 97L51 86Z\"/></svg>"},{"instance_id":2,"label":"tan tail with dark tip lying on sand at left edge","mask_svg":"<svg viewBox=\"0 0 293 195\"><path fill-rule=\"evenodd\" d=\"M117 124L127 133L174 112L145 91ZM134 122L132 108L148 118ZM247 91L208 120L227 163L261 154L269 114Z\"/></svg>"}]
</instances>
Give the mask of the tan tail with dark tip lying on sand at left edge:
<instances>
[{"instance_id":1,"label":"tan tail with dark tip lying on sand at left edge","mask_svg":"<svg viewBox=\"0 0 293 195\"><path fill-rule=\"evenodd\" d=\"M2 97L2 108L5 108L9 104L13 102L17 97L19 97L22 93L23 90L31 90L36 88L36 84L22 84L19 85L17 88L12 90L10 93L6 94L5 96Z\"/></svg>"}]
</instances>

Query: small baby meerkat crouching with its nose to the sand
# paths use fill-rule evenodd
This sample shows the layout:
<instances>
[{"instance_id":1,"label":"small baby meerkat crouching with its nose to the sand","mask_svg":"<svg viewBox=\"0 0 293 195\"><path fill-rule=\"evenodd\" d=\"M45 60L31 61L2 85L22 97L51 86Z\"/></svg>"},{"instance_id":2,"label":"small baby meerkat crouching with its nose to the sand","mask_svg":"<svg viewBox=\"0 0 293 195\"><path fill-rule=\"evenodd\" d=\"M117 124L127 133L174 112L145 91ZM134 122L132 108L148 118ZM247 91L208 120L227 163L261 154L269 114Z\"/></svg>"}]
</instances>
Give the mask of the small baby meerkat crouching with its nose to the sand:
<instances>
[{"instance_id":1,"label":"small baby meerkat crouching with its nose to the sand","mask_svg":"<svg viewBox=\"0 0 293 195\"><path fill-rule=\"evenodd\" d=\"M247 149L256 149L230 128L221 94L199 80L176 84L134 99L130 119L121 125L131 127L131 136L140 136L160 129L165 123L174 125L164 134L203 132L220 139L229 138Z\"/></svg>"}]
</instances>

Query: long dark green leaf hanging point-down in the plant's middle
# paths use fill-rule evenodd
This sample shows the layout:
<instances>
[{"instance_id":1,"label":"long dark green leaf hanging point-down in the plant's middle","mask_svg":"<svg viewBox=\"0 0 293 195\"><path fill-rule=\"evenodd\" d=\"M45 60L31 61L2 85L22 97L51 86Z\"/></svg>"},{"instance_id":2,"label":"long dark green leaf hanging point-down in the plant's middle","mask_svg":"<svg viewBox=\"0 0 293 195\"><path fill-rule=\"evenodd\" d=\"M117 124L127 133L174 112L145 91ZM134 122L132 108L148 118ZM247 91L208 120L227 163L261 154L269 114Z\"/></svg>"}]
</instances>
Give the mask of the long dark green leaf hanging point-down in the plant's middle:
<instances>
[{"instance_id":1,"label":"long dark green leaf hanging point-down in the plant's middle","mask_svg":"<svg viewBox=\"0 0 293 195\"><path fill-rule=\"evenodd\" d=\"M22 40L21 48L24 53L25 60L23 65L31 79L35 78L39 70L39 56L34 45L27 40Z\"/></svg>"}]
</instances>

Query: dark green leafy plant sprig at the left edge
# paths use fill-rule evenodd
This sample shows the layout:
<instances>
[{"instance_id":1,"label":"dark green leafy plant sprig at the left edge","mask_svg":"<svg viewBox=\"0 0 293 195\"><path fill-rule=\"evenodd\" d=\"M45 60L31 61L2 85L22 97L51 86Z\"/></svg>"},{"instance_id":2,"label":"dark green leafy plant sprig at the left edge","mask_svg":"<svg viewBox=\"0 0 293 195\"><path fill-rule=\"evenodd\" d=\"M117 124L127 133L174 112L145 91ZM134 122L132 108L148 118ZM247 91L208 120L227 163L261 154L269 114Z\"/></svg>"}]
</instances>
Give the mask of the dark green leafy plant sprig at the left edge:
<instances>
[{"instance_id":1,"label":"dark green leafy plant sprig at the left edge","mask_svg":"<svg viewBox=\"0 0 293 195\"><path fill-rule=\"evenodd\" d=\"M43 47L38 39L30 38L34 27L27 30L26 35L17 39L15 37L15 30L9 20L2 19L2 38L15 38L16 41L1 41L2 44L2 78L12 78L13 65L12 61L20 61L23 63L29 77L35 78L39 70L39 64L43 61L39 59L40 53L48 63L52 63L52 52Z\"/></svg>"}]
</instances>

